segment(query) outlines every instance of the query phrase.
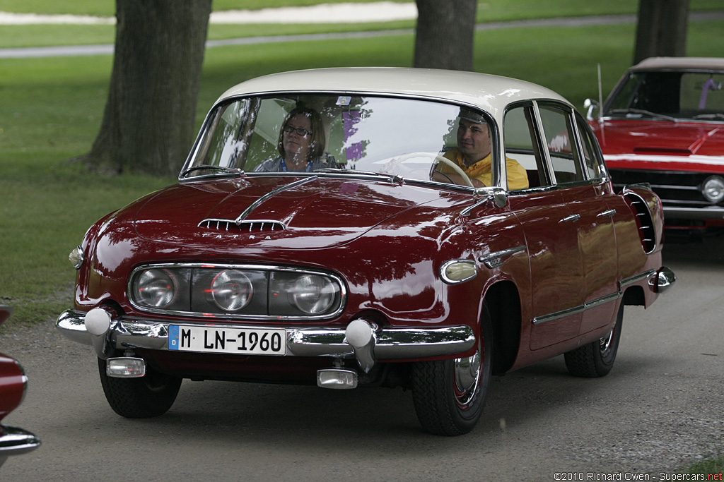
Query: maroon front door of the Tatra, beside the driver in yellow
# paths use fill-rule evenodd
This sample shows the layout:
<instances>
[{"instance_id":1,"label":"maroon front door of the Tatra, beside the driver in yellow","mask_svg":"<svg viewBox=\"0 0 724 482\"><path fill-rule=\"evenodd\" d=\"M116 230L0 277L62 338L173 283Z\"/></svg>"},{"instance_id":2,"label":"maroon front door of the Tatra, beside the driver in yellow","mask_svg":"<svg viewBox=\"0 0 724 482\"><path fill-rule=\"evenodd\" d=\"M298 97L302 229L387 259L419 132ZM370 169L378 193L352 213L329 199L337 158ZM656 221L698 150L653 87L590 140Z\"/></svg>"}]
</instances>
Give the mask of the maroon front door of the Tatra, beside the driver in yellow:
<instances>
[{"instance_id":1,"label":"maroon front door of the Tatra, beside the driver in yellow","mask_svg":"<svg viewBox=\"0 0 724 482\"><path fill-rule=\"evenodd\" d=\"M511 191L510 209L523 226L531 270L529 334L531 350L578 335L584 302L583 261L578 231L550 168L536 103L509 108L504 119L506 157L529 174L529 188ZM565 123L564 123L565 124Z\"/></svg>"}]
</instances>

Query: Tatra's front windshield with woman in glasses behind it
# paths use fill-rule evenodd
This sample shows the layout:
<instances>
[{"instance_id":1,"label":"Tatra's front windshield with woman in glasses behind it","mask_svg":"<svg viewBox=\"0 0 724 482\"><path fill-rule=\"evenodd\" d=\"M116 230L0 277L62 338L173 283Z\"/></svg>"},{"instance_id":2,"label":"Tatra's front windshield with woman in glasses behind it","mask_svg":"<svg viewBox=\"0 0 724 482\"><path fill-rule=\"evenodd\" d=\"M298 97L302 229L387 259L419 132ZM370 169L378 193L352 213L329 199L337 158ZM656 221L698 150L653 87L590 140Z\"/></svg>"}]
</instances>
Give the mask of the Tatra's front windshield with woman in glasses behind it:
<instances>
[{"instance_id":1,"label":"Tatra's front windshield with woman in glasses behind it","mask_svg":"<svg viewBox=\"0 0 724 482\"><path fill-rule=\"evenodd\" d=\"M431 181L457 145L460 112L450 103L381 96L239 98L209 114L180 178L327 170ZM487 128L486 113L463 112Z\"/></svg>"}]
</instances>

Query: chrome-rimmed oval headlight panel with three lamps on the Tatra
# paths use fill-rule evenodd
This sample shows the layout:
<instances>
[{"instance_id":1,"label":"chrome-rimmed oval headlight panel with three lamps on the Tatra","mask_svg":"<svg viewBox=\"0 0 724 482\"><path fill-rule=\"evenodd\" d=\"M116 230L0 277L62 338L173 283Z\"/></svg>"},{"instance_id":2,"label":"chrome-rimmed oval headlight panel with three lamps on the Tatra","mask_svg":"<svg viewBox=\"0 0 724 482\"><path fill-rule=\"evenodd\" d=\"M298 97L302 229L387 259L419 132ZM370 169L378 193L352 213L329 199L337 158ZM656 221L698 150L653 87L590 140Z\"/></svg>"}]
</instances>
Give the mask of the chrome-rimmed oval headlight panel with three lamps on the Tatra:
<instances>
[{"instance_id":1,"label":"chrome-rimmed oval headlight panel with three lamps on the Tatra","mask_svg":"<svg viewBox=\"0 0 724 482\"><path fill-rule=\"evenodd\" d=\"M144 273L153 270L164 270L175 275L179 296L167 306L145 304L138 292L136 280ZM221 286L218 283L221 283L219 275L222 273L232 275L233 279L240 283L235 288L225 285L231 291L238 288L238 292L234 292L233 296L238 295L241 298L235 298L239 303L234 306L224 301L222 294L217 291ZM303 279L318 280L318 282L324 280L321 283L323 285L321 293L317 293L320 291L320 283L308 291L300 288L298 282ZM218 282L216 287L214 287L215 281ZM231 294L231 291L224 295ZM127 283L127 297L130 304L139 311L181 317L256 320L332 319L345 309L347 288L340 276L323 270L263 264L156 263L137 267L131 272ZM321 304L306 305L302 301L305 297L321 300ZM316 311L306 310L305 306L316 307Z\"/></svg>"}]
</instances>

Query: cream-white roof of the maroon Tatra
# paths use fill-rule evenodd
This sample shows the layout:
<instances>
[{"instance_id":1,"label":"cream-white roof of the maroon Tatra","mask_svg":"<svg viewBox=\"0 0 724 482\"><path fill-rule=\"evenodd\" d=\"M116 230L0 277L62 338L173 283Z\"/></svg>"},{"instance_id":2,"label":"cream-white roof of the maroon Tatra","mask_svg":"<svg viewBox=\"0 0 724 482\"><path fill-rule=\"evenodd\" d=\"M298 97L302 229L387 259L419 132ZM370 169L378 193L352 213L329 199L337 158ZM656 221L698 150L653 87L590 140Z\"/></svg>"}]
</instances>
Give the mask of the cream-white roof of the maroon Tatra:
<instances>
[{"instance_id":1,"label":"cream-white roof of the maroon Tatra","mask_svg":"<svg viewBox=\"0 0 724 482\"><path fill-rule=\"evenodd\" d=\"M345 67L270 74L232 87L219 100L274 92L364 92L434 98L477 106L494 117L501 116L505 106L516 100L552 99L571 106L561 95L531 82L476 72L399 67Z\"/></svg>"}]
</instances>

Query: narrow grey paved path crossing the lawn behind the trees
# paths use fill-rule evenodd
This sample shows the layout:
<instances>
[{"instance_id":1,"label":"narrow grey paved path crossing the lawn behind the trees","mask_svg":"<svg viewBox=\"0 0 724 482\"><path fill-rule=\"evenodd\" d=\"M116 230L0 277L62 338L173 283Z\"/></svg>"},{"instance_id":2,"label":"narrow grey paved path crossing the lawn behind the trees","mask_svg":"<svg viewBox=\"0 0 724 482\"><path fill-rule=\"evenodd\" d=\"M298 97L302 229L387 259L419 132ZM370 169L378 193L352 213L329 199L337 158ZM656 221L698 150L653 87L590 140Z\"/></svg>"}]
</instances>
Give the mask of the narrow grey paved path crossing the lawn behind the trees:
<instances>
[{"instance_id":1,"label":"narrow grey paved path crossing the lawn behind the trees","mask_svg":"<svg viewBox=\"0 0 724 482\"><path fill-rule=\"evenodd\" d=\"M691 12L689 20L724 19L723 12ZM589 25L615 25L636 22L635 15L600 15L596 17L570 17L541 20L518 20L514 22L488 22L476 26L476 30L499 30L501 28L525 27L582 27ZM206 48L230 45L253 45L256 43L300 42L307 40L337 40L340 38L369 38L390 35L412 35L413 29L379 30L370 32L319 33L306 35L269 35L262 37L230 38L209 40ZM27 48L0 48L0 59L22 59L30 57L94 56L111 55L112 45L51 46Z\"/></svg>"}]
</instances>

